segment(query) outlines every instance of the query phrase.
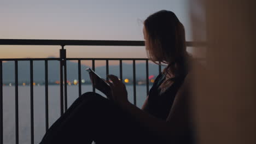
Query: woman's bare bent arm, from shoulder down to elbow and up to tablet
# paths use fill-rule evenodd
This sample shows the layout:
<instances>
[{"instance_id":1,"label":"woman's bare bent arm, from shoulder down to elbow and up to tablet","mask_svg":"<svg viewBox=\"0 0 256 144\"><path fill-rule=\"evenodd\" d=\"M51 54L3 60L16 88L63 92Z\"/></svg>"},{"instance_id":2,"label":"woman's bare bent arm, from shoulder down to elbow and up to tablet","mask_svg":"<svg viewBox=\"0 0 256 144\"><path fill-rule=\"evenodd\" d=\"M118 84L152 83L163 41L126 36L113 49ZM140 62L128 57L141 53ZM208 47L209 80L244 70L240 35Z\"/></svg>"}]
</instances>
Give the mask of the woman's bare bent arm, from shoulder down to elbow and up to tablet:
<instances>
[{"instance_id":1,"label":"woman's bare bent arm, from shoulder down to elbow and up to tablet","mask_svg":"<svg viewBox=\"0 0 256 144\"><path fill-rule=\"evenodd\" d=\"M111 79L113 83L116 83L116 86L114 86L113 83L110 84L112 85L113 89L117 89L117 92L113 93L113 95L115 95L114 100L117 100L118 104L125 111L129 112L131 116L136 118L139 123L141 123L144 127L148 128L154 135L159 136L163 140L173 142L175 140L178 140L179 136L184 134L184 132L187 130L188 112L185 105L187 105L186 101L188 97L188 91L186 89L188 88L188 86L186 86L186 83L188 82L185 82L186 80L184 81L182 87L179 89L173 102L173 107L170 111L170 115L165 121L139 109L135 105L131 104L128 100L124 100L124 96L122 96L124 94L121 93L122 88L118 87L121 84L115 80L114 76L109 76L109 79Z\"/></svg>"}]
</instances>

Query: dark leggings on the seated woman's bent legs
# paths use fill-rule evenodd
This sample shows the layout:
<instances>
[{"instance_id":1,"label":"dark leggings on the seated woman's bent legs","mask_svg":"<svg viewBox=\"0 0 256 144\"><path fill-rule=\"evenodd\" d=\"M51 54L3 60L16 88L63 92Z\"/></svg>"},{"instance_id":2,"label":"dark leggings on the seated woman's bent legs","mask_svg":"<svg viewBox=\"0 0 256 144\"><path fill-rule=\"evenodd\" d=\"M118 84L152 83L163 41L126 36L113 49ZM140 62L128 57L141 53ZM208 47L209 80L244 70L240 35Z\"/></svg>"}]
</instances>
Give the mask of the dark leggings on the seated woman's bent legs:
<instances>
[{"instance_id":1,"label":"dark leggings on the seated woman's bent legs","mask_svg":"<svg viewBox=\"0 0 256 144\"><path fill-rule=\"evenodd\" d=\"M88 92L74 101L50 127L41 144L158 143L147 128L100 94Z\"/></svg>"}]
</instances>

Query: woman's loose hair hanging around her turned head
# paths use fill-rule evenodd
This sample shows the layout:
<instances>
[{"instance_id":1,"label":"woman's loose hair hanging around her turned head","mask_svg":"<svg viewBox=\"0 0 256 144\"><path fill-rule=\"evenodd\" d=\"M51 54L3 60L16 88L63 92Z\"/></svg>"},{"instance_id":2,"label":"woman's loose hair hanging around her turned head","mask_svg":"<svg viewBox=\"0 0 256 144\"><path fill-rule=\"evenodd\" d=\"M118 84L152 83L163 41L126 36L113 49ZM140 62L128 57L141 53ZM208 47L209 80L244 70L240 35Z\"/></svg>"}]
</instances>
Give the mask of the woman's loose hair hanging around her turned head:
<instances>
[{"instance_id":1,"label":"woman's loose hair hanging around her turned head","mask_svg":"<svg viewBox=\"0 0 256 144\"><path fill-rule=\"evenodd\" d=\"M168 64L163 73L182 75L188 69L185 30L172 11L161 10L144 21L147 55L151 61Z\"/></svg>"}]
</instances>

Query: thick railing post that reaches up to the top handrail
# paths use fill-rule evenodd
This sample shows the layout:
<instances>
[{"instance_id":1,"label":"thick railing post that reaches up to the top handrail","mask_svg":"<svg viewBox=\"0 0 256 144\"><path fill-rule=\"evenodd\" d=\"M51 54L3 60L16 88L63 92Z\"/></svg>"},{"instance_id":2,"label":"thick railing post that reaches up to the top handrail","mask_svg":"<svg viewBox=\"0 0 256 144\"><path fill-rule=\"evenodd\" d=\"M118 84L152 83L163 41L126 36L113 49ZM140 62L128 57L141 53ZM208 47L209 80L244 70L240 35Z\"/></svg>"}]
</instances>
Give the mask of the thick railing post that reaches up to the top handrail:
<instances>
[{"instance_id":1,"label":"thick railing post that reaches up to the top handrail","mask_svg":"<svg viewBox=\"0 0 256 144\"><path fill-rule=\"evenodd\" d=\"M66 50L64 49L65 45L61 45L60 49L60 109L61 109L61 116L64 113L64 106L63 106L63 67L66 66ZM66 74L66 73L65 73ZM65 87L66 88L66 87ZM65 93L66 95L66 93Z\"/></svg>"}]
</instances>

